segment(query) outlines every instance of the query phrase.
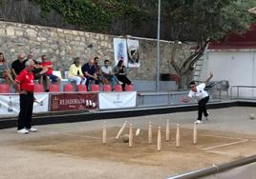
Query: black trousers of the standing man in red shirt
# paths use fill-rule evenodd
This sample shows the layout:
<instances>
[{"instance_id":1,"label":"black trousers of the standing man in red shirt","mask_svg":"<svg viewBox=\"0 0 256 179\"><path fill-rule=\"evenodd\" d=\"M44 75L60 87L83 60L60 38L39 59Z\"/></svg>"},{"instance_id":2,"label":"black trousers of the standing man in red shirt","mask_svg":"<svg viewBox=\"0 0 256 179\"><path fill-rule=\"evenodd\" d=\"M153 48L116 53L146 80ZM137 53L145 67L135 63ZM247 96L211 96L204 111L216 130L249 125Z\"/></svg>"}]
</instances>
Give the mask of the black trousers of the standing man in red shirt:
<instances>
[{"instance_id":1,"label":"black trousers of the standing man in red shirt","mask_svg":"<svg viewBox=\"0 0 256 179\"><path fill-rule=\"evenodd\" d=\"M33 93L19 95L20 111L18 116L18 129L32 128Z\"/></svg>"}]
</instances>

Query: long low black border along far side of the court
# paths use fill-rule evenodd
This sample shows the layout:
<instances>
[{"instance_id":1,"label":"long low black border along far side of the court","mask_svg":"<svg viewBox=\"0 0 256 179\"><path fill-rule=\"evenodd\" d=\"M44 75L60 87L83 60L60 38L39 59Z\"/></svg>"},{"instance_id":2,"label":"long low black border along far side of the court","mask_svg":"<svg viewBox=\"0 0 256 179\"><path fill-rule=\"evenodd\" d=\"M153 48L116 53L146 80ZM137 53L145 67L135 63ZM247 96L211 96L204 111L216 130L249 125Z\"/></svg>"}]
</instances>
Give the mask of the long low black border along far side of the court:
<instances>
[{"instance_id":1,"label":"long low black border along far side of the court","mask_svg":"<svg viewBox=\"0 0 256 179\"><path fill-rule=\"evenodd\" d=\"M208 109L221 109L228 107L256 107L256 102L246 101L227 101L215 102L207 105ZM32 125L49 125L59 123L75 123L84 121L93 121L99 119L113 119L121 117L134 117L143 115L153 115L162 113L174 113L181 111L193 111L197 109L197 104L191 105L176 105L151 108L136 108L136 109L118 109L118 110L102 110L102 111L77 111L78 113L53 113L53 115L38 115L32 117ZM10 117L0 120L0 129L14 128L17 126L17 117Z\"/></svg>"}]
</instances>

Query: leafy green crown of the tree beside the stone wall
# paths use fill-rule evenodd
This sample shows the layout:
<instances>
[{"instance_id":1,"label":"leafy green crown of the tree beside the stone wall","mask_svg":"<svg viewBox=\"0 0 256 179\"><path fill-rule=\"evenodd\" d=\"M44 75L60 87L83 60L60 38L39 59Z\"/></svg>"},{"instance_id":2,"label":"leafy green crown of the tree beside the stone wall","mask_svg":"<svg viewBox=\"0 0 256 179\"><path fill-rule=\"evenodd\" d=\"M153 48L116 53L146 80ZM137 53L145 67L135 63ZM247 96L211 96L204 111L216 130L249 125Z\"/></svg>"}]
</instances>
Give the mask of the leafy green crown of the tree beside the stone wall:
<instances>
[{"instance_id":1,"label":"leafy green crown of the tree beside the stone wall","mask_svg":"<svg viewBox=\"0 0 256 179\"><path fill-rule=\"evenodd\" d=\"M228 32L242 32L255 22L247 10L254 0L173 0L164 1L168 19L176 27L177 40L192 34L196 41L218 40Z\"/></svg>"}]
</instances>

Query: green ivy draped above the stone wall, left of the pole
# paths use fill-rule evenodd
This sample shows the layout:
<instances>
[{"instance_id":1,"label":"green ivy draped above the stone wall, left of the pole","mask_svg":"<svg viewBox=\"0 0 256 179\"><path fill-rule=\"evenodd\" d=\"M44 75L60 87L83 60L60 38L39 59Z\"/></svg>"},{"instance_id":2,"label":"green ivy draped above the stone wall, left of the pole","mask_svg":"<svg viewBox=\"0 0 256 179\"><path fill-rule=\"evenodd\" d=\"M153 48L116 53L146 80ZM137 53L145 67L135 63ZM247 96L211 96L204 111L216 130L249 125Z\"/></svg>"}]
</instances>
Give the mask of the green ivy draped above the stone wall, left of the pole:
<instances>
[{"instance_id":1,"label":"green ivy draped above the stone wall, left of the pole","mask_svg":"<svg viewBox=\"0 0 256 179\"><path fill-rule=\"evenodd\" d=\"M46 17L50 10L61 14L63 21L80 25L85 30L107 31L114 19L140 24L146 17L132 1L125 0L31 0L41 7ZM131 4L129 4L131 2Z\"/></svg>"}]
</instances>

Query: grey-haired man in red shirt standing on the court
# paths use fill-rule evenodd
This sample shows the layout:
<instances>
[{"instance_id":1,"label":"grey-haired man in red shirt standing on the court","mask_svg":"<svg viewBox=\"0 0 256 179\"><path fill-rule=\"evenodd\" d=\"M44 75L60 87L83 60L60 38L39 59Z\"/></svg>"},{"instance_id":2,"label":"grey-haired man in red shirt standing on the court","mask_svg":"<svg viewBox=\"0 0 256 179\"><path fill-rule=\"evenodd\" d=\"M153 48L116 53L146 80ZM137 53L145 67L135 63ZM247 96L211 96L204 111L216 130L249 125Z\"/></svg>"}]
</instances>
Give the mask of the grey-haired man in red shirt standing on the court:
<instances>
[{"instance_id":1,"label":"grey-haired man in red shirt standing on the court","mask_svg":"<svg viewBox=\"0 0 256 179\"><path fill-rule=\"evenodd\" d=\"M32 128L32 106L33 96L33 73L34 62L32 59L25 63L25 69L22 70L15 78L13 86L19 93L20 111L18 116L18 133L34 132L37 129Z\"/></svg>"}]
</instances>

